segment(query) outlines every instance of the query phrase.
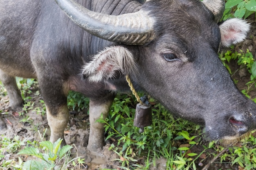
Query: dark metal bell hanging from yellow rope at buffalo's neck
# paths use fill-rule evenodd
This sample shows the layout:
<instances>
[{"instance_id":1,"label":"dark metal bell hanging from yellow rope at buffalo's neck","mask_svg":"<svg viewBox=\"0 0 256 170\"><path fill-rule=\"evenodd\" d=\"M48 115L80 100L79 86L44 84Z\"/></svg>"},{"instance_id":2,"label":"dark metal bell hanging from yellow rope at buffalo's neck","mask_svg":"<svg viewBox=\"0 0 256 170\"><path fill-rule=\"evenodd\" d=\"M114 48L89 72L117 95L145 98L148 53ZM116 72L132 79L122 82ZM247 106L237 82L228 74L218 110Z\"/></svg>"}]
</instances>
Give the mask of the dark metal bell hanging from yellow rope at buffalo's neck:
<instances>
[{"instance_id":1,"label":"dark metal bell hanging from yellow rope at buffalo's neck","mask_svg":"<svg viewBox=\"0 0 256 170\"><path fill-rule=\"evenodd\" d=\"M140 104L136 105L135 117L133 125L140 128L139 132L144 132L144 127L152 124L152 108L151 104Z\"/></svg>"}]
</instances>

